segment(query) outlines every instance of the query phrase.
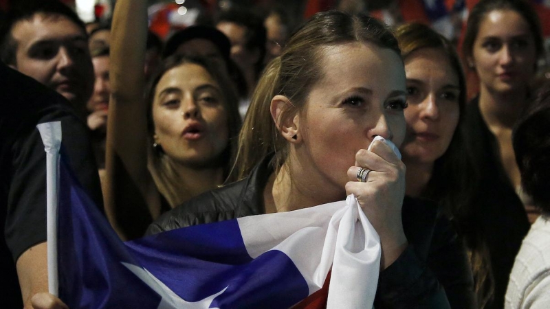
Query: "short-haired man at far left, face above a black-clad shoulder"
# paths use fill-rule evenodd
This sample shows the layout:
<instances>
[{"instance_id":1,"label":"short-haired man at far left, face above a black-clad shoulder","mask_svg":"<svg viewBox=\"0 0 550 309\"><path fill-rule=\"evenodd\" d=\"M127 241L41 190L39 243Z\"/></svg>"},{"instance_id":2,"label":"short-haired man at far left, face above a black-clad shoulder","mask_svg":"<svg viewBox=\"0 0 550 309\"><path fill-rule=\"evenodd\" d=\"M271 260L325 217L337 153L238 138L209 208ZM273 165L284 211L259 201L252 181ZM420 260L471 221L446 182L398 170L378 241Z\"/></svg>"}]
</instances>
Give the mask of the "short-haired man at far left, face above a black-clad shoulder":
<instances>
[{"instance_id":1,"label":"short-haired man at far left, face above a black-clad shoulder","mask_svg":"<svg viewBox=\"0 0 550 309\"><path fill-rule=\"evenodd\" d=\"M0 58L61 93L82 117L94 87L83 21L55 0L14 3L0 27Z\"/></svg>"}]
</instances>

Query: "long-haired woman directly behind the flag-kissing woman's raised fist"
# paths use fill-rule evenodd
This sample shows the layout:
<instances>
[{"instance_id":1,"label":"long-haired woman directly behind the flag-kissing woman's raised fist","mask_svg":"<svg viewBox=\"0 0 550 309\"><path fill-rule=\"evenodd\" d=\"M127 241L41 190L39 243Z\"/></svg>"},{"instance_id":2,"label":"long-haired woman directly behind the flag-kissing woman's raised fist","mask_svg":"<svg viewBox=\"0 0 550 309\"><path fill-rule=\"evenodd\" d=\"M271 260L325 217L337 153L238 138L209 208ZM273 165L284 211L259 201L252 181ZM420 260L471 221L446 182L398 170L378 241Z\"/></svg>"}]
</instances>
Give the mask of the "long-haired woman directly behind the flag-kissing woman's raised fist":
<instances>
[{"instance_id":1,"label":"long-haired woman directly behind the flag-kissing woman's raised fist","mask_svg":"<svg viewBox=\"0 0 550 309\"><path fill-rule=\"evenodd\" d=\"M457 227L467 225L473 192L468 171L473 163L465 144L466 87L460 58L451 43L428 25L401 25L395 36L405 63L408 92L407 133L401 145L407 166L406 195L435 201ZM481 304L489 255L478 247L478 235L459 230L459 236L474 266Z\"/></svg>"}]
</instances>

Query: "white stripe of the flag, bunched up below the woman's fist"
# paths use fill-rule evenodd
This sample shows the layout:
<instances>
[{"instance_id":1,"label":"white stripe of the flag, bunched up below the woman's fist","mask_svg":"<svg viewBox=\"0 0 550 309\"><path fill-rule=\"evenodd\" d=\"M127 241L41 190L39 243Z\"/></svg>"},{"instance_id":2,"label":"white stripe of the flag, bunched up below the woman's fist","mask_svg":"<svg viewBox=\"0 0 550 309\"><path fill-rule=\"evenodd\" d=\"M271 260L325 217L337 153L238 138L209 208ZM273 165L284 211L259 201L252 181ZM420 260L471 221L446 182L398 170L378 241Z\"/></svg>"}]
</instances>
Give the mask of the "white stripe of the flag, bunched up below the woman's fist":
<instances>
[{"instance_id":1,"label":"white stripe of the flag, bunched up below the woman's fist","mask_svg":"<svg viewBox=\"0 0 550 309\"><path fill-rule=\"evenodd\" d=\"M327 308L372 308L380 237L353 194L346 201L237 220L250 256L284 252L306 279L309 295L322 288L332 268Z\"/></svg>"}]
</instances>

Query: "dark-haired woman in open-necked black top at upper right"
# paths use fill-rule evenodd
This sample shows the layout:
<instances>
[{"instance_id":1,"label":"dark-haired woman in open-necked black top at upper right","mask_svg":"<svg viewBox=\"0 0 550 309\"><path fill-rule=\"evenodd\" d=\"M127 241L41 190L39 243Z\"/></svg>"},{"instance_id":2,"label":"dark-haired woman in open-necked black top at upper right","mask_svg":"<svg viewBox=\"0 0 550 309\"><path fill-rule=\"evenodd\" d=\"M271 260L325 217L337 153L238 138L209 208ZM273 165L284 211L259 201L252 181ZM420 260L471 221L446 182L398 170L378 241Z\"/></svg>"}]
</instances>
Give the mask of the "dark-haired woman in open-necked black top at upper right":
<instances>
[{"instance_id":1,"label":"dark-haired woman in open-necked black top at upper right","mask_svg":"<svg viewBox=\"0 0 550 309\"><path fill-rule=\"evenodd\" d=\"M520 196L520 172L511 130L529 102L529 83L542 54L536 13L527 1L481 0L467 21L463 56L480 80L466 110L467 139L480 179L467 233L486 238L494 296L487 308L503 308L514 257L529 230ZM525 200L527 203L527 200Z\"/></svg>"}]
</instances>

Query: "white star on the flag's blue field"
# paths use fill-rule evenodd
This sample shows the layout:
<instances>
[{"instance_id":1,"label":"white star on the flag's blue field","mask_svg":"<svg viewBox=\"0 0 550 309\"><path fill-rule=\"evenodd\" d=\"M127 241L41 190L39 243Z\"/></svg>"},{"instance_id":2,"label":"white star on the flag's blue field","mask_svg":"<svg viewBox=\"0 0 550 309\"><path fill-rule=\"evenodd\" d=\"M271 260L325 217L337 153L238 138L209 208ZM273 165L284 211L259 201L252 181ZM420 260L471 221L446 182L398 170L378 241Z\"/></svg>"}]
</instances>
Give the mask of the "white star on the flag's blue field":
<instances>
[{"instance_id":1,"label":"white star on the flag's blue field","mask_svg":"<svg viewBox=\"0 0 550 309\"><path fill-rule=\"evenodd\" d=\"M159 306L157 309L177 309L177 308L186 308L186 309L208 309L210 308L210 304L212 304L212 301L214 298L218 297L218 295L221 295L221 293L225 292L229 286L226 286L223 290L219 291L218 293L206 297L205 299L201 301L197 301L195 303L190 303L188 301L185 301L181 297L179 297L176 293L174 293L173 290L170 290L166 284L162 283L155 275L147 271L145 268L141 268L138 266L135 266L133 264L124 263L122 262L126 268L128 268L134 275L136 275L138 278L142 279L145 284L147 284L150 288L152 288L160 297L162 297ZM211 308L211 309L219 309L219 308Z\"/></svg>"}]
</instances>

